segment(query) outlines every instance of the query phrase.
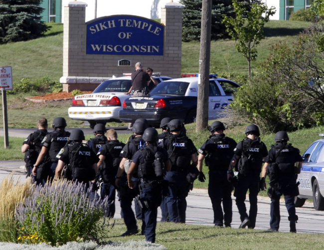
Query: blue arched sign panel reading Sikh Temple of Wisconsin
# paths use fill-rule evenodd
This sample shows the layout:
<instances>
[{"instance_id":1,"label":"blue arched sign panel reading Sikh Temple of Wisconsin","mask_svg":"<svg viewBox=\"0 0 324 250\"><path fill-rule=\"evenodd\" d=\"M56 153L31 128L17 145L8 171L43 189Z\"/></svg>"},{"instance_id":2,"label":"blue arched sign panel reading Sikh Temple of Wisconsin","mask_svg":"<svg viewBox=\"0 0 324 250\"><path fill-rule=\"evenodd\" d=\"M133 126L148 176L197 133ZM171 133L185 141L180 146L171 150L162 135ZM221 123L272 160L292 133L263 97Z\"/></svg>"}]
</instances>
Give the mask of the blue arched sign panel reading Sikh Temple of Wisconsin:
<instances>
[{"instance_id":1,"label":"blue arched sign panel reading Sikh Temple of Wisconsin","mask_svg":"<svg viewBox=\"0 0 324 250\"><path fill-rule=\"evenodd\" d=\"M86 53L163 55L164 25L134 15L112 15L86 23Z\"/></svg>"}]
</instances>

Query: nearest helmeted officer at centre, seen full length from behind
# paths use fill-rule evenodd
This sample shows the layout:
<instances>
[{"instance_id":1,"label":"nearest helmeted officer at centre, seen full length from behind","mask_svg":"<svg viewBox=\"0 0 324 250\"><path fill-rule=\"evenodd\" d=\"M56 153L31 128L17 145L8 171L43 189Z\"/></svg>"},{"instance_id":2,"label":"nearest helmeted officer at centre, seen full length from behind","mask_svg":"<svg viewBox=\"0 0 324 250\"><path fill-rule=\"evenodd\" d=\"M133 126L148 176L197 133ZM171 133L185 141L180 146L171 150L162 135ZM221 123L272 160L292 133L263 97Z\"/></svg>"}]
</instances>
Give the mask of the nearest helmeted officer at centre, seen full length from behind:
<instances>
[{"instance_id":1,"label":"nearest helmeted officer at centre, seen full length from behind","mask_svg":"<svg viewBox=\"0 0 324 250\"><path fill-rule=\"evenodd\" d=\"M137 170L141 183L140 201L143 206L142 222L144 227L142 227L142 234L145 235L148 242L155 243L163 173L170 171L171 165L166 150L157 146L159 138L156 129L147 128L144 131L143 139L146 142L146 147L135 153L127 178L129 187L133 189L135 184L132 178Z\"/></svg>"}]
</instances>

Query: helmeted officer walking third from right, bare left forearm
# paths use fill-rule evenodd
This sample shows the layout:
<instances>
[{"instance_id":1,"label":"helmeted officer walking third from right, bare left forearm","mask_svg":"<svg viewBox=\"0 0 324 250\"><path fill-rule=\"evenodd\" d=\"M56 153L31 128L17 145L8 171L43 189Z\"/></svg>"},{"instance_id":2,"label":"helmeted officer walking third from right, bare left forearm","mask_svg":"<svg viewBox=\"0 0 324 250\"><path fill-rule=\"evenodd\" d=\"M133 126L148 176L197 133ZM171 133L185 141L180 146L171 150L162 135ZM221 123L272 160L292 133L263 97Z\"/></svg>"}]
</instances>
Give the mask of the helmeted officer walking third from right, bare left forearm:
<instances>
[{"instance_id":1,"label":"helmeted officer walking third from right, bare left forearm","mask_svg":"<svg viewBox=\"0 0 324 250\"><path fill-rule=\"evenodd\" d=\"M227 181L227 170L237 143L225 136L224 130L222 122L214 121L209 129L211 136L198 150L198 180L205 181L202 162L206 159L205 163L209 167L208 195L214 211L214 224L217 227L223 227L223 220L225 227L231 227L232 222L232 184Z\"/></svg>"}]
</instances>

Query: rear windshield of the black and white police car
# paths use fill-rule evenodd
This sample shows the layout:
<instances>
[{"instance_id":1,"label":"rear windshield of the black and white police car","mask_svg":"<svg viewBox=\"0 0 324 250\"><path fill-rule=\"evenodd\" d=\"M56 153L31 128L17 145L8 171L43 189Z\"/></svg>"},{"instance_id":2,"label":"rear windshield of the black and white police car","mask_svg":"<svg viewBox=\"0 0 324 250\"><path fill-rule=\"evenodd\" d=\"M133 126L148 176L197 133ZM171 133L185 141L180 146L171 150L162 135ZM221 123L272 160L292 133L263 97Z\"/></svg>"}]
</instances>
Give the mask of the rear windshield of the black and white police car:
<instances>
[{"instance_id":1,"label":"rear windshield of the black and white police car","mask_svg":"<svg viewBox=\"0 0 324 250\"><path fill-rule=\"evenodd\" d=\"M158 84L158 86L150 92L150 95L185 95L189 83L178 81L165 81Z\"/></svg>"}]
</instances>

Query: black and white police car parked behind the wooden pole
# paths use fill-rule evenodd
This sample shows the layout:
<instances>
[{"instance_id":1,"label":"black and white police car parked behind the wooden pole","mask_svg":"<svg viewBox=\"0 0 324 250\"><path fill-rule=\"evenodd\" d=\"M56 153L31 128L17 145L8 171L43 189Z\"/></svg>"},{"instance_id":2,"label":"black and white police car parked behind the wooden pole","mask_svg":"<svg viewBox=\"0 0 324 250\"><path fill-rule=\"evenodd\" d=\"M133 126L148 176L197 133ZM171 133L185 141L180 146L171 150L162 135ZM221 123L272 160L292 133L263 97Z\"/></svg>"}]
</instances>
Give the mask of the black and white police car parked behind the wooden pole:
<instances>
[{"instance_id":1,"label":"black and white police car parked behind the wooden pole","mask_svg":"<svg viewBox=\"0 0 324 250\"><path fill-rule=\"evenodd\" d=\"M127 98L119 117L124 122L145 118L154 126L164 117L191 123L196 117L198 80L198 74L182 74L182 78L160 83L147 96ZM232 94L238 87L240 85L231 80L210 74L209 120L225 115L225 107L233 101Z\"/></svg>"}]
</instances>

